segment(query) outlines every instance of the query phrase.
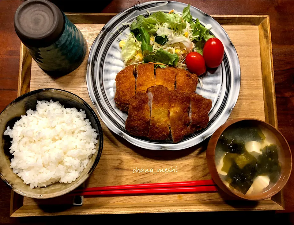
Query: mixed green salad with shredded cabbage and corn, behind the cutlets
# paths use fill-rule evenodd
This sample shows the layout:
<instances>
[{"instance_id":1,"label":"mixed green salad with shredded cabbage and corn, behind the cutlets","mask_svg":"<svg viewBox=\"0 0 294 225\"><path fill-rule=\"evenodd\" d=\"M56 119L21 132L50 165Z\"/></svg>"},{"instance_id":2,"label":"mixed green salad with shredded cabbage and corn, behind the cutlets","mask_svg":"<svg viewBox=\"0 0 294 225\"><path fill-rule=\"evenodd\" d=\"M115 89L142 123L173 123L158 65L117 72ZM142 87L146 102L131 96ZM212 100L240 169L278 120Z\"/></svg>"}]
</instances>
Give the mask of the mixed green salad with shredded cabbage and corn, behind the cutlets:
<instances>
[{"instance_id":1,"label":"mixed green salad with shredded cabbage and corn, behind the cutlets","mask_svg":"<svg viewBox=\"0 0 294 225\"><path fill-rule=\"evenodd\" d=\"M182 14L171 10L140 15L130 24L130 35L119 42L121 57L126 66L151 62L184 68L187 54L194 51L202 55L205 42L214 37L210 28L210 24L203 26L198 19L192 20L190 4Z\"/></svg>"}]
</instances>

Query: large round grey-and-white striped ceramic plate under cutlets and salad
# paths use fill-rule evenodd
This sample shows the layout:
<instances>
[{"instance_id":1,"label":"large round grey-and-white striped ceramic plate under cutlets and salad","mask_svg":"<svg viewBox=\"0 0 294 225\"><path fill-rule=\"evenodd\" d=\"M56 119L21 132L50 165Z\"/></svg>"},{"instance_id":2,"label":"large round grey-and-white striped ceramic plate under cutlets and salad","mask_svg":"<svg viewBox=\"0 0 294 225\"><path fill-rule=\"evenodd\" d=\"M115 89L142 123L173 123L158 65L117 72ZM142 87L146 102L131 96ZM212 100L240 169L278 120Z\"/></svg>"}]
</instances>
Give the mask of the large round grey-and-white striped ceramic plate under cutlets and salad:
<instances>
[{"instance_id":1,"label":"large round grey-and-white striped ceramic plate under cutlets and salad","mask_svg":"<svg viewBox=\"0 0 294 225\"><path fill-rule=\"evenodd\" d=\"M119 41L125 39L125 35L130 33L129 26L123 25L123 23L132 22L138 15L147 17L147 10L149 13L153 13L156 11L169 12L174 9L181 13L186 6L187 4L180 2L165 1L146 2L133 6L113 17L103 27L90 50L87 87L100 118L110 130L142 148L179 150L202 142L226 122L239 96L240 64L234 45L217 21L191 6L190 12L193 19L198 18L203 25L211 24L211 33L222 41L225 51L224 60L217 71L213 74L208 73L204 77L203 87L200 84L197 86L197 94L212 100L208 126L176 144L172 143L171 140L152 141L148 138L135 137L125 130L127 114L121 112L114 102L115 76L124 68L124 63L120 57Z\"/></svg>"}]
</instances>

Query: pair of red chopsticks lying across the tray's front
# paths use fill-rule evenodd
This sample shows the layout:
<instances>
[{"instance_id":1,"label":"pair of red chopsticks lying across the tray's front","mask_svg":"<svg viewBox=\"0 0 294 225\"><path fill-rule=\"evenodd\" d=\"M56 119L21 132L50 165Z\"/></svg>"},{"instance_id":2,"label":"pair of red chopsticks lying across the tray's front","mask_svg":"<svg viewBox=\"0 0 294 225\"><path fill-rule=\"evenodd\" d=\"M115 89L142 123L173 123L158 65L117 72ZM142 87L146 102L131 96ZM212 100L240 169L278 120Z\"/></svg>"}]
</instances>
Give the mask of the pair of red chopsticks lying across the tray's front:
<instances>
[{"instance_id":1,"label":"pair of red chopsticks lying across the tray's front","mask_svg":"<svg viewBox=\"0 0 294 225\"><path fill-rule=\"evenodd\" d=\"M107 186L76 189L69 193L71 196L95 196L95 195L126 195L126 194L168 194L187 192L217 192L217 186L213 180L194 180L155 184L130 184L120 186Z\"/></svg>"}]
</instances>

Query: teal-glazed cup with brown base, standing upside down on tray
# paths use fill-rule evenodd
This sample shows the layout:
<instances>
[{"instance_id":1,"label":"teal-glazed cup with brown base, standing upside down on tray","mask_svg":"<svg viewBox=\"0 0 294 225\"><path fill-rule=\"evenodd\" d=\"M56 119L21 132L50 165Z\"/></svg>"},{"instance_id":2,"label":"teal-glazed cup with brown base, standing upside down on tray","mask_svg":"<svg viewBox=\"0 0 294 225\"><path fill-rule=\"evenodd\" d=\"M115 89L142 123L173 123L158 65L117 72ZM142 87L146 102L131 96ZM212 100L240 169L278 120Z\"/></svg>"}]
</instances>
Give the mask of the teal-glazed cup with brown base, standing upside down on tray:
<instances>
[{"instance_id":1,"label":"teal-glazed cup with brown base, standing upside down on tray","mask_svg":"<svg viewBox=\"0 0 294 225\"><path fill-rule=\"evenodd\" d=\"M14 26L32 58L46 72L69 73L85 58L86 41L81 31L51 2L24 2L16 11Z\"/></svg>"}]
</instances>

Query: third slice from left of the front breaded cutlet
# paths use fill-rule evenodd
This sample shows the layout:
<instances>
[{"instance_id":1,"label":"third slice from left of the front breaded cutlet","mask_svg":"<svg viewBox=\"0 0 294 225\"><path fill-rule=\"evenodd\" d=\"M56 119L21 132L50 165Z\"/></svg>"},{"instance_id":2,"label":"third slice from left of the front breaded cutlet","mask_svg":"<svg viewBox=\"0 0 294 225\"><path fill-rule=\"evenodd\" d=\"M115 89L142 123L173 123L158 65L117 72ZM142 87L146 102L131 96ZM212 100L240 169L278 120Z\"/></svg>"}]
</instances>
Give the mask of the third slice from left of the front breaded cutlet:
<instances>
[{"instance_id":1,"label":"third slice from left of the front breaded cutlet","mask_svg":"<svg viewBox=\"0 0 294 225\"><path fill-rule=\"evenodd\" d=\"M180 90L170 91L169 118L171 136L174 143L181 141L189 134L190 93Z\"/></svg>"}]
</instances>

